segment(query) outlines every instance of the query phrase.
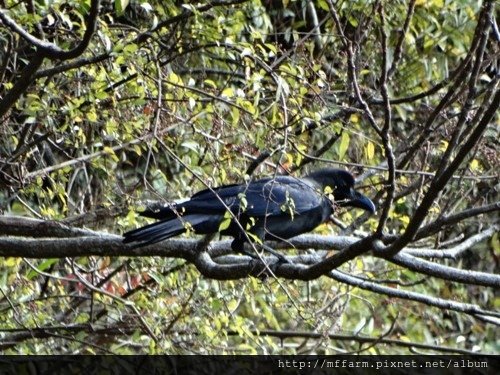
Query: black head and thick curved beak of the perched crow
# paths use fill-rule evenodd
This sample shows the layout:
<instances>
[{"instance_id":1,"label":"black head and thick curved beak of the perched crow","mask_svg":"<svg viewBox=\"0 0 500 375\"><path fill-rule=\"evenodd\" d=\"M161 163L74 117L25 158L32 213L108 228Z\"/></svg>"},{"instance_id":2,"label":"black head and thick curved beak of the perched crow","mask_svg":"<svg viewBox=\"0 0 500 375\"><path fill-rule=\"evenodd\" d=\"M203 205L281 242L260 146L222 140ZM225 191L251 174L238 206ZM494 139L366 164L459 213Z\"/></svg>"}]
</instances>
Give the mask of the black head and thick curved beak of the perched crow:
<instances>
[{"instance_id":1,"label":"black head and thick curved beak of the perched crow","mask_svg":"<svg viewBox=\"0 0 500 375\"><path fill-rule=\"evenodd\" d=\"M333 191L335 203L339 206L352 206L375 213L375 205L363 194L354 190L354 177L341 169L320 169L307 175L324 191L327 187Z\"/></svg>"}]
</instances>

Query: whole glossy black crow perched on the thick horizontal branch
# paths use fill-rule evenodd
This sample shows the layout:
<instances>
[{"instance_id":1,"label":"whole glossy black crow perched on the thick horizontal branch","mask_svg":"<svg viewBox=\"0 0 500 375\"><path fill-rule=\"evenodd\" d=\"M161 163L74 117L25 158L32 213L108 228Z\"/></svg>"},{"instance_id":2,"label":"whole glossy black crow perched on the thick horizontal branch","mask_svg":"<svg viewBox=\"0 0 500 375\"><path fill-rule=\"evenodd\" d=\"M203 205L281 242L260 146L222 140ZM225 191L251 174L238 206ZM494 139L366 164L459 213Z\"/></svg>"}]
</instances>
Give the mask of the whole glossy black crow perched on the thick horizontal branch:
<instances>
[{"instance_id":1,"label":"whole glossy black crow perched on the thick horizontal branch","mask_svg":"<svg viewBox=\"0 0 500 375\"><path fill-rule=\"evenodd\" d=\"M321 169L304 178L277 176L206 189L187 201L146 210L141 215L160 221L125 233L123 242L144 246L187 230L220 232L232 236L233 250L242 252L248 233L250 239L281 240L309 232L329 220L334 204L375 212L373 202L354 190L349 172Z\"/></svg>"}]
</instances>

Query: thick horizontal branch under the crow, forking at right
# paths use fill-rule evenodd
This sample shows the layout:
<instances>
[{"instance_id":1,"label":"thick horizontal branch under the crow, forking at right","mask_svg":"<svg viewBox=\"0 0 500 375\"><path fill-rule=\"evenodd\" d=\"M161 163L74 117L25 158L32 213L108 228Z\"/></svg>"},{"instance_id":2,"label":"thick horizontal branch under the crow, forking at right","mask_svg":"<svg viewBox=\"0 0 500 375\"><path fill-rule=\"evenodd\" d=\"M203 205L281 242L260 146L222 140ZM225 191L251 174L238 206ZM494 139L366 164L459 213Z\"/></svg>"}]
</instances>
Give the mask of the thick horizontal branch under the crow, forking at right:
<instances>
[{"instance_id":1,"label":"thick horizontal branch under the crow, forking at right","mask_svg":"<svg viewBox=\"0 0 500 375\"><path fill-rule=\"evenodd\" d=\"M162 256L185 259L193 263L206 277L228 280L240 279L248 276L261 277L271 271L277 277L286 279L312 280L328 274L331 270L350 260L353 253L361 255L369 249L371 237L359 239L356 237L315 236L303 235L287 242L272 243L274 249L336 249L338 253L325 258L326 253L316 252L298 256L288 256L289 264L277 263L273 256L262 256L262 259L250 259L244 256L230 256L233 254L230 241L216 241L208 248L205 242L192 239L170 239L160 244L134 248L124 245L122 237L106 233L92 232L84 229L70 228L57 222L24 218L0 218L2 233L9 235L27 235L38 237L26 239L19 237L0 236L0 256L25 258L64 258L80 256ZM10 219L10 220L9 220ZM17 229L16 229L17 228ZM454 249L425 250L407 248L401 256L389 259L408 269L426 275L439 277L445 280L461 283L484 285L489 287L500 286L500 276L484 272L460 270L442 266L413 257L429 254L440 257L449 257L445 254L458 256L467 246L472 246L479 240L491 236L496 227L490 228L481 236L473 236ZM45 238L43 238L45 236ZM57 236L58 238L47 238ZM67 236L62 238L62 236ZM203 251L204 249L207 251ZM376 255L379 255L377 252ZM220 258L221 256L226 256Z\"/></svg>"}]
</instances>

